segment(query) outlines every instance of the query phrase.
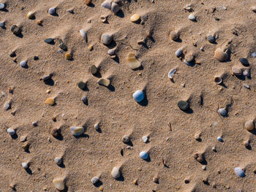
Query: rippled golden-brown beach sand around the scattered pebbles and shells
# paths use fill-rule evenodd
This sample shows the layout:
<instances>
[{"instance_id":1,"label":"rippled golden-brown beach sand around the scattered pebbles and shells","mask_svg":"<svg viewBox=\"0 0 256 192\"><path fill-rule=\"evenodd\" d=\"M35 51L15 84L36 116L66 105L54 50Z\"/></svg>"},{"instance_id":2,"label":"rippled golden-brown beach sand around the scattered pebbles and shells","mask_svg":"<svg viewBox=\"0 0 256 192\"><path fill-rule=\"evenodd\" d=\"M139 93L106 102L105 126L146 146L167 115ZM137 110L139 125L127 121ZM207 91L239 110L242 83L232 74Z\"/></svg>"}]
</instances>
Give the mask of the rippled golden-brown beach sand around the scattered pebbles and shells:
<instances>
[{"instance_id":1,"label":"rippled golden-brown beach sand around the scattered pebbles and shells","mask_svg":"<svg viewBox=\"0 0 256 192\"><path fill-rule=\"evenodd\" d=\"M12 191L10 185L17 191L56 191L52 181L58 177L65 178L66 191L76 192L256 191L255 134L244 129L246 120L256 118L256 61L251 56L256 51L256 15L251 10L255 1L129 0L121 1L117 15L101 7L99 0L90 6L83 0L2 2L7 7L0 11L0 21L6 21L0 28L0 91L6 94L1 105L10 101L11 109L1 108L0 191ZM186 4L194 12L185 11ZM56 7L55 16L48 14L50 7ZM74 14L67 12L70 8ZM35 12L35 20L26 18L28 12ZM143 25L129 20L135 13ZM189 14L197 21L189 20ZM108 15L107 23L101 22L101 15ZM42 20L42 26L36 20ZM12 34L12 25L22 26L22 37ZM88 42L80 36L82 28ZM168 38L173 30L180 33L178 42ZM152 37L146 37L148 31ZM109 47L100 42L105 32L113 34L114 60L107 54ZM218 36L216 44L207 42L209 33ZM55 45L44 42L49 37ZM58 52L59 38L67 52ZM144 38L146 45L138 45ZM93 50L88 50L89 45ZM221 63L214 50L225 46L231 50L230 60ZM195 55L200 64L184 64L175 55L178 48ZM11 50L16 63L9 56ZM72 61L65 53L72 53ZM136 54L141 69L129 68L128 53ZM34 55L39 60L34 61ZM241 65L239 58L248 58L252 79L231 73L232 66ZM27 69L19 65L23 60ZM109 88L98 85L99 77L89 72L92 64L100 67L100 76L111 80ZM172 82L167 73L173 68L177 72ZM46 85L40 78L50 73L53 83ZM214 75L222 75L224 85L216 85ZM87 82L85 91L78 88L80 81ZM136 90L146 93L143 104L132 99ZM87 96L88 105L82 96ZM48 98L55 99L56 105L45 104ZM179 100L189 101L189 113L178 109ZM217 109L226 104L230 104L228 116L222 118ZM97 122L101 131L94 129ZM70 126L84 126L86 132L74 137ZM16 137L10 137L7 128L15 128ZM50 134L52 128L61 129L61 139ZM125 134L132 142L129 148L121 142ZM200 134L201 142L195 134ZM25 135L30 145L26 152L20 142ZM148 143L142 140L145 135ZM217 140L219 136L224 142ZM243 144L248 139L250 150ZM211 150L214 146L217 152ZM150 160L140 158L143 150ZM197 152L205 154L206 170L193 158ZM56 157L64 165L56 165ZM23 162L29 163L28 170L21 166ZM121 168L120 180L110 174L114 166ZM246 169L246 177L236 176L236 166ZM94 186L91 178L97 175L100 183ZM158 184L153 182L156 176Z\"/></svg>"}]
</instances>

